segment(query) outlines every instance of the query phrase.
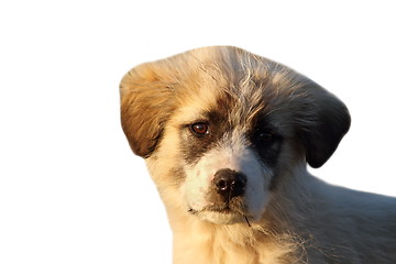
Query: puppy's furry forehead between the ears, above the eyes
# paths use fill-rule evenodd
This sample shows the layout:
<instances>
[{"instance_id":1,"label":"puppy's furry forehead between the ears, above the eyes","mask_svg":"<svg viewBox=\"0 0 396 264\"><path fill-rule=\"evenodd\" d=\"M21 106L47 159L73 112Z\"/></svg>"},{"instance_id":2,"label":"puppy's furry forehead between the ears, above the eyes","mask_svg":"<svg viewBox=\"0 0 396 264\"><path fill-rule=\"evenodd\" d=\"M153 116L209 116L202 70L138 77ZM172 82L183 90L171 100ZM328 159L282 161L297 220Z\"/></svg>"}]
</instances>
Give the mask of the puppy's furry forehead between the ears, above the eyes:
<instances>
[{"instance_id":1,"label":"puppy's furry forehead between the ears, above the eyes","mask_svg":"<svg viewBox=\"0 0 396 264\"><path fill-rule=\"evenodd\" d=\"M204 51L187 56L191 63L177 80L174 117L179 122L211 117L246 127L258 116L292 114L288 101L300 86L299 74L244 51L217 47L210 50L211 56ZM280 119L275 121L282 124Z\"/></svg>"}]
</instances>

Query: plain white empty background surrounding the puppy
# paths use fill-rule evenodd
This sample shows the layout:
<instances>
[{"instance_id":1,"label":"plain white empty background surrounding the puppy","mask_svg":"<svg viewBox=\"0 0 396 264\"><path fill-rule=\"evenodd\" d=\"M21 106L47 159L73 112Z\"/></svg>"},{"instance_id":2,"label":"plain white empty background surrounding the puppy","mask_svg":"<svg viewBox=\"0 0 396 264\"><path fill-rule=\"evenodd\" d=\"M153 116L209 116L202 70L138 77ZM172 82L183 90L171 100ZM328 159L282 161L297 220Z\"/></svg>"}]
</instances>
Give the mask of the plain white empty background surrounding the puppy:
<instances>
[{"instance_id":1,"label":"plain white empty background surrounding the puppy","mask_svg":"<svg viewBox=\"0 0 396 264\"><path fill-rule=\"evenodd\" d=\"M352 128L314 174L395 196L395 7L323 2L2 1L0 263L170 263L118 85L140 63L206 45L284 63L340 97Z\"/></svg>"}]
</instances>

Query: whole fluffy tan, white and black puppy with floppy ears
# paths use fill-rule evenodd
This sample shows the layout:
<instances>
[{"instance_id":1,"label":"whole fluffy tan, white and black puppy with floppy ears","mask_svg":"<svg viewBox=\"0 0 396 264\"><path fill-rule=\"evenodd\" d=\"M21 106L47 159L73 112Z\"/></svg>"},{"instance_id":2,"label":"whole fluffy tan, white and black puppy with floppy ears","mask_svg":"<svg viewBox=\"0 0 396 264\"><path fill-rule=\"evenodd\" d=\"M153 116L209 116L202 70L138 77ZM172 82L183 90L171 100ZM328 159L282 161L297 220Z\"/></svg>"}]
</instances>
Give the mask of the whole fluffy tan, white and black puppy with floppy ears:
<instances>
[{"instance_id":1,"label":"whole fluffy tan, white and black puppy with floppy ears","mask_svg":"<svg viewBox=\"0 0 396 264\"><path fill-rule=\"evenodd\" d=\"M122 128L174 232L174 263L396 263L396 199L330 186L350 128L337 97L237 47L130 70Z\"/></svg>"}]
</instances>

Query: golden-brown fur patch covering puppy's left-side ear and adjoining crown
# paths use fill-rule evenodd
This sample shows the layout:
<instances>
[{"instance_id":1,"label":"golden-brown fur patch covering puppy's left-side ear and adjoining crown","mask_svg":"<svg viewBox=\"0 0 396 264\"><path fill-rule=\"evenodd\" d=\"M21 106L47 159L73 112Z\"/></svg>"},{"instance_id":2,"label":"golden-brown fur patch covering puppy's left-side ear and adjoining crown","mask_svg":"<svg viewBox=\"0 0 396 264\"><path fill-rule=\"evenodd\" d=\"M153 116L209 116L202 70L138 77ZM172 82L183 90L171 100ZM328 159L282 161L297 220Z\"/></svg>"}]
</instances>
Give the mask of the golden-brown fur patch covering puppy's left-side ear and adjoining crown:
<instances>
[{"instance_id":1,"label":"golden-brown fur patch covering puppy's left-side ear and adjoining crown","mask_svg":"<svg viewBox=\"0 0 396 264\"><path fill-rule=\"evenodd\" d=\"M176 109L186 106L193 110L212 101L212 88L219 85L221 76L207 65L216 54L216 48L196 50L140 65L123 77L121 122L136 155L152 154Z\"/></svg>"}]
</instances>

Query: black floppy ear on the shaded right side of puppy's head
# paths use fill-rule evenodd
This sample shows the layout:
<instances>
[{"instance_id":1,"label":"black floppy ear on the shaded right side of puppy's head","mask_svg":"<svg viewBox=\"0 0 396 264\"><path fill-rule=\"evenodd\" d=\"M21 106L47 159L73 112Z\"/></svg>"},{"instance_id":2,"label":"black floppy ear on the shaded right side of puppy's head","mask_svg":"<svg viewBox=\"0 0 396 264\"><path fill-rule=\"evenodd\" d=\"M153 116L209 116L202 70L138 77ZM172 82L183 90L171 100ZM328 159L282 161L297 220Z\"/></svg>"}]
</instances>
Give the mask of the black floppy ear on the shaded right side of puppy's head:
<instances>
[{"instance_id":1,"label":"black floppy ear on the shaded right side of puppy's head","mask_svg":"<svg viewBox=\"0 0 396 264\"><path fill-rule=\"evenodd\" d=\"M304 87L309 102L302 110L304 124L298 136L305 146L308 164L318 168L322 166L338 147L349 131L351 117L345 105L336 96L315 82Z\"/></svg>"}]
</instances>

